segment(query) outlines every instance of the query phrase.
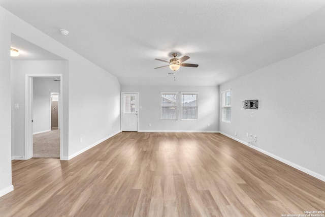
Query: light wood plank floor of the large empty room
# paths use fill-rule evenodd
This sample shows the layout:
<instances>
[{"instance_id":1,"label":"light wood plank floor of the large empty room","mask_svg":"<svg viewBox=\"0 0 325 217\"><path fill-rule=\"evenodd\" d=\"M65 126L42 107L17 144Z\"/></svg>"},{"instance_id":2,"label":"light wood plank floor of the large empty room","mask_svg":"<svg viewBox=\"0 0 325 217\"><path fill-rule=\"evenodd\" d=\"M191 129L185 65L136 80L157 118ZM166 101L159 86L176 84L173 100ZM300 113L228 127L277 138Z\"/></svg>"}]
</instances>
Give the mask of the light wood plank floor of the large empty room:
<instances>
[{"instance_id":1,"label":"light wood plank floor of the large empty room","mask_svg":"<svg viewBox=\"0 0 325 217\"><path fill-rule=\"evenodd\" d=\"M122 132L70 161L13 161L0 216L281 216L325 182L221 134Z\"/></svg>"}]
</instances>

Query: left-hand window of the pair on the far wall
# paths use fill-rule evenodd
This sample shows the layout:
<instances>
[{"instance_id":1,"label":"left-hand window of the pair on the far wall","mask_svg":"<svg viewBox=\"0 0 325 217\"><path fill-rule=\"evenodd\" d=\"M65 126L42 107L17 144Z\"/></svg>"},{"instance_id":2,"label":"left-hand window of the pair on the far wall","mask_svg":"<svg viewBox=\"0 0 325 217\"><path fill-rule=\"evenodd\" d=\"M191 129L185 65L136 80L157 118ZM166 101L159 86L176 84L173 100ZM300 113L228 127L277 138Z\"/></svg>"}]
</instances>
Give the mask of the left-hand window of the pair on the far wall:
<instances>
[{"instance_id":1,"label":"left-hand window of the pair on the far wall","mask_svg":"<svg viewBox=\"0 0 325 217\"><path fill-rule=\"evenodd\" d=\"M161 93L162 120L177 120L177 94Z\"/></svg>"}]
</instances>

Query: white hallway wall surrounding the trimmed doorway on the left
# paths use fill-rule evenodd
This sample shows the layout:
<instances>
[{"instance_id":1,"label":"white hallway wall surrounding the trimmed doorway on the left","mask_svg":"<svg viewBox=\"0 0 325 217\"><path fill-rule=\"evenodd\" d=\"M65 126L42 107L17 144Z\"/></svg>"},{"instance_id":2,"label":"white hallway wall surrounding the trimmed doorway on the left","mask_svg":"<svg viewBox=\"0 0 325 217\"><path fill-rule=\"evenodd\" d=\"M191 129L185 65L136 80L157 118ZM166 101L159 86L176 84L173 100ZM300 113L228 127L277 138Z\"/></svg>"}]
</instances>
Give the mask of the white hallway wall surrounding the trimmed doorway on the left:
<instances>
[{"instance_id":1,"label":"white hallway wall surrounding the trimmed doorway on the left","mask_svg":"<svg viewBox=\"0 0 325 217\"><path fill-rule=\"evenodd\" d=\"M69 92L68 92L68 61L66 60L40 60L40 61L14 61L14 104L19 104L19 109L14 109L14 158L20 159L25 156L25 75L26 74L62 74L63 75L63 129L68 129L69 114ZM38 87L38 78L36 87ZM48 79L48 78L47 78ZM56 82L59 83L59 82ZM56 84L57 85L57 84ZM36 92L37 94L37 92ZM37 104L37 99L36 99ZM13 105L14 106L14 105ZM37 112L37 111L36 111ZM36 116L38 119L38 116ZM34 125L38 129L38 123ZM36 131L37 132L37 131ZM68 134L62 135L63 146L68 147ZM68 148L67 148L68 149ZM63 156L68 156L68 151L63 151Z\"/></svg>"}]
</instances>

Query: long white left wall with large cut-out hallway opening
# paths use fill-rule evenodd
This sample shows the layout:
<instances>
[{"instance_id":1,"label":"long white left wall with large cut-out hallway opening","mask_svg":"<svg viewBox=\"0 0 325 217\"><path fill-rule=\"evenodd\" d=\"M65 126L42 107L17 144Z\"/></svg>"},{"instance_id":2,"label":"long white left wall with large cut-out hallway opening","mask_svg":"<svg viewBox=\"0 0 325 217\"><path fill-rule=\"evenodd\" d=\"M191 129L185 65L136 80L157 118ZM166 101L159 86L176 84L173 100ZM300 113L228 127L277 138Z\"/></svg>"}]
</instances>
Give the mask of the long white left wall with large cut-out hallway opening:
<instances>
[{"instance_id":1,"label":"long white left wall with large cut-out hallway opening","mask_svg":"<svg viewBox=\"0 0 325 217\"><path fill-rule=\"evenodd\" d=\"M120 84L116 77L2 7L0 7L0 21L1 194L2 192L7 193L8 189L12 187L10 127L11 34L15 34L68 60L69 75L67 77L63 76L63 94L67 95L64 99L69 99L66 103L63 101L66 106L63 110L68 109L68 112L65 113L68 121L66 125L63 123L62 135L62 137L68 138L68 145L63 148L63 158L66 160L120 131ZM15 65L16 70L17 65ZM83 137L82 143L80 143L80 137ZM16 151L24 154L22 150L15 149Z\"/></svg>"}]
</instances>

